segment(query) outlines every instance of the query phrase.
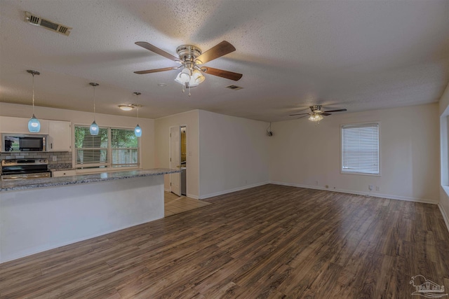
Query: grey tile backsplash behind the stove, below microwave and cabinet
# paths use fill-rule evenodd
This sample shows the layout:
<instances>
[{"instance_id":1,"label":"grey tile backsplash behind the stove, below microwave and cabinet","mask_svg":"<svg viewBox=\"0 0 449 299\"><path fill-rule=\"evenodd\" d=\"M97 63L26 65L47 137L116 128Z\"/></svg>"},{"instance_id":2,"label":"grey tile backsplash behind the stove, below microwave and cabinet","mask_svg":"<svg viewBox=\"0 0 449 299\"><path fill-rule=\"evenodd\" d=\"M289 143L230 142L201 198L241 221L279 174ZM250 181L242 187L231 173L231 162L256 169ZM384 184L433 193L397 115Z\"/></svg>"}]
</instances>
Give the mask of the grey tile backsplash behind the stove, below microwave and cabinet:
<instances>
[{"instance_id":1,"label":"grey tile backsplash behind the stove, below microwave and cabinet","mask_svg":"<svg viewBox=\"0 0 449 299\"><path fill-rule=\"evenodd\" d=\"M56 156L56 161L53 161L53 156ZM39 158L48 159L48 168L50 169L72 168L72 152L70 151L0 153L0 160Z\"/></svg>"}]
</instances>

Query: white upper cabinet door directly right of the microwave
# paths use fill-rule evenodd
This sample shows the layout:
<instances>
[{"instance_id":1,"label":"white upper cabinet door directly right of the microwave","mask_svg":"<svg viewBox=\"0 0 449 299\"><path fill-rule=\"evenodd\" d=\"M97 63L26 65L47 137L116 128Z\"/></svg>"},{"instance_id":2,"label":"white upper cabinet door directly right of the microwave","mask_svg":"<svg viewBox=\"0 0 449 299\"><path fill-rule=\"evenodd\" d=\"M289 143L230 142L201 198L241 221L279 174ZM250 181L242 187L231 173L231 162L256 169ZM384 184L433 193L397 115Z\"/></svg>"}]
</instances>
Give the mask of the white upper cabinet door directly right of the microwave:
<instances>
[{"instance_id":1,"label":"white upper cabinet door directly right of the microwave","mask_svg":"<svg viewBox=\"0 0 449 299\"><path fill-rule=\"evenodd\" d=\"M48 120L48 151L72 151L72 123Z\"/></svg>"}]
</instances>

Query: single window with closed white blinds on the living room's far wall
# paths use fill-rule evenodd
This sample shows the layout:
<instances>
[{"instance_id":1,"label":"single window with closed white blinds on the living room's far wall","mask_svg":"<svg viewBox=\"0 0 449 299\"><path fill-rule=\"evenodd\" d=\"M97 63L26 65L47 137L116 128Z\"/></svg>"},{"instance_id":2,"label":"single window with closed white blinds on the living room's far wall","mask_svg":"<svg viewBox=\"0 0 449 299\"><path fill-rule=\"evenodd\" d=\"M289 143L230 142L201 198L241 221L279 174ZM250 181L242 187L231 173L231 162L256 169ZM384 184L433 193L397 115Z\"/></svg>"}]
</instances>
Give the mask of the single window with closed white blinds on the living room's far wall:
<instances>
[{"instance_id":1,"label":"single window with closed white blinds on the living room's far wall","mask_svg":"<svg viewBox=\"0 0 449 299\"><path fill-rule=\"evenodd\" d=\"M342 125L342 173L380 174L378 123Z\"/></svg>"}]
</instances>

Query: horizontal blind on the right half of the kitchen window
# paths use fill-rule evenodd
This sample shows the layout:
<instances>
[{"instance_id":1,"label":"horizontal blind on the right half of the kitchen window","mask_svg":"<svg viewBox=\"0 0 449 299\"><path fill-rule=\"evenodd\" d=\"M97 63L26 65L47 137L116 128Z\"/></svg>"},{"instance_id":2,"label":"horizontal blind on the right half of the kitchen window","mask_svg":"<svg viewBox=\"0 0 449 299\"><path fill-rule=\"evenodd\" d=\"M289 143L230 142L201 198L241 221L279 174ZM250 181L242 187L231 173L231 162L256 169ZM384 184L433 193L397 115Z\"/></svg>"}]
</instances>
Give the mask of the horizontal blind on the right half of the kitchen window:
<instances>
[{"instance_id":1,"label":"horizontal blind on the right half of the kitchen window","mask_svg":"<svg viewBox=\"0 0 449 299\"><path fill-rule=\"evenodd\" d=\"M139 141L134 130L111 129L112 167L139 165Z\"/></svg>"}]
</instances>

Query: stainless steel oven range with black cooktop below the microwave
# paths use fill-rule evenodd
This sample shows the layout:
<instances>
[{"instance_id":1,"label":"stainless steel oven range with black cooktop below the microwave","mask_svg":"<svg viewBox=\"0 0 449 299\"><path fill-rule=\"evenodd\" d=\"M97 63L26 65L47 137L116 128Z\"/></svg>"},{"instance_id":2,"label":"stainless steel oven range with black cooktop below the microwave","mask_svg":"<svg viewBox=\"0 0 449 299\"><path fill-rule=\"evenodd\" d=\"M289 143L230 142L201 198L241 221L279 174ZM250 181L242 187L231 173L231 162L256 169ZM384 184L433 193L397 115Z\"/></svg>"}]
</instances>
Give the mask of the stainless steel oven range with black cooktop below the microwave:
<instances>
[{"instance_id":1,"label":"stainless steel oven range with black cooktop below the microwave","mask_svg":"<svg viewBox=\"0 0 449 299\"><path fill-rule=\"evenodd\" d=\"M51 177L47 159L14 159L1 161L1 180Z\"/></svg>"}]
</instances>

